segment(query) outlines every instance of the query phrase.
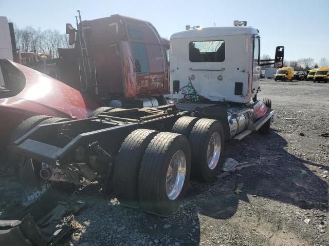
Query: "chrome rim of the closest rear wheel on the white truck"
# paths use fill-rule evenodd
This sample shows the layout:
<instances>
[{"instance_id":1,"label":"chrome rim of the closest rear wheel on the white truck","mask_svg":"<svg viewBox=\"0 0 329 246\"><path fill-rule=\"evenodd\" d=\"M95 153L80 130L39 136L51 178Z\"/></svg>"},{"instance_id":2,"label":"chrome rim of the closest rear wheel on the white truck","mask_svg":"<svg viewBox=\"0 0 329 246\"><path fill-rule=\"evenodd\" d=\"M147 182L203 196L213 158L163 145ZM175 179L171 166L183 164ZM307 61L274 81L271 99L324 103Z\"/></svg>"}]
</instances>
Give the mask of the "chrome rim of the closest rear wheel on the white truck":
<instances>
[{"instance_id":1,"label":"chrome rim of the closest rear wheel on the white truck","mask_svg":"<svg viewBox=\"0 0 329 246\"><path fill-rule=\"evenodd\" d=\"M178 150L170 160L166 177L166 192L170 200L175 200L184 186L186 176L186 157Z\"/></svg>"}]
</instances>

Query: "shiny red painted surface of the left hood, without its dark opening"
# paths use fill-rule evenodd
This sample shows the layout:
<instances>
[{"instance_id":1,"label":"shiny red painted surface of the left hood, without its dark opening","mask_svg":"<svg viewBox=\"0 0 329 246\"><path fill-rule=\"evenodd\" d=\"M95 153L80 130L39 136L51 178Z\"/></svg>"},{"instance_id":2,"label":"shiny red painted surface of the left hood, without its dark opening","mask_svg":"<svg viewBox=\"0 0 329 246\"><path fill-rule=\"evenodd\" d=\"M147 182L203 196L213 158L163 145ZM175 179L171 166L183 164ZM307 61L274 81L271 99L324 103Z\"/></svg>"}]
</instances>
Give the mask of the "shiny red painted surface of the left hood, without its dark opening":
<instances>
[{"instance_id":1,"label":"shiny red painted surface of the left hood, without its dark opening","mask_svg":"<svg viewBox=\"0 0 329 246\"><path fill-rule=\"evenodd\" d=\"M25 77L24 89L15 96L0 99L0 107L12 110L26 110L35 113L54 114L86 118L99 105L61 81L8 60ZM41 110L41 111L40 111Z\"/></svg>"}]
</instances>

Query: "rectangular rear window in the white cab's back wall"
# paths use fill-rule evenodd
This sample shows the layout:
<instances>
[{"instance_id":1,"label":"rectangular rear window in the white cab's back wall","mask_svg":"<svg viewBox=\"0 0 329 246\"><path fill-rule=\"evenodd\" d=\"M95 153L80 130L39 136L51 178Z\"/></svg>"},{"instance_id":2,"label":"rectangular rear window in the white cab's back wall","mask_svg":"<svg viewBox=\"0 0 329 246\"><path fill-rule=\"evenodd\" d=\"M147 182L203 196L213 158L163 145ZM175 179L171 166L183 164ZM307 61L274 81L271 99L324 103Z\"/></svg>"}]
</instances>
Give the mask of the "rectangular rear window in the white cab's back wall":
<instances>
[{"instance_id":1,"label":"rectangular rear window in the white cab's back wall","mask_svg":"<svg viewBox=\"0 0 329 246\"><path fill-rule=\"evenodd\" d=\"M192 63L220 63L225 60L225 41L190 42L189 58Z\"/></svg>"}]
</instances>

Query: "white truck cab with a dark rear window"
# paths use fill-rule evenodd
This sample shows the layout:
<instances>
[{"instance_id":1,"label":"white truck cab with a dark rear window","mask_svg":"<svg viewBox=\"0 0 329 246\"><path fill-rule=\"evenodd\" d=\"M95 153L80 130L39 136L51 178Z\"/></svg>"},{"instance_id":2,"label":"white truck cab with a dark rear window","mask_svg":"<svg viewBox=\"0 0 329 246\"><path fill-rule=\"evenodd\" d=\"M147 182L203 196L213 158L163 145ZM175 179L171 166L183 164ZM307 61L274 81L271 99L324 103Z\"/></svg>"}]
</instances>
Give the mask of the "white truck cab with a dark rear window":
<instances>
[{"instance_id":1,"label":"white truck cab with a dark rear window","mask_svg":"<svg viewBox=\"0 0 329 246\"><path fill-rule=\"evenodd\" d=\"M211 101L247 103L257 93L261 75L257 29L198 28L173 34L170 45L173 98L185 97L191 86Z\"/></svg>"}]
</instances>

